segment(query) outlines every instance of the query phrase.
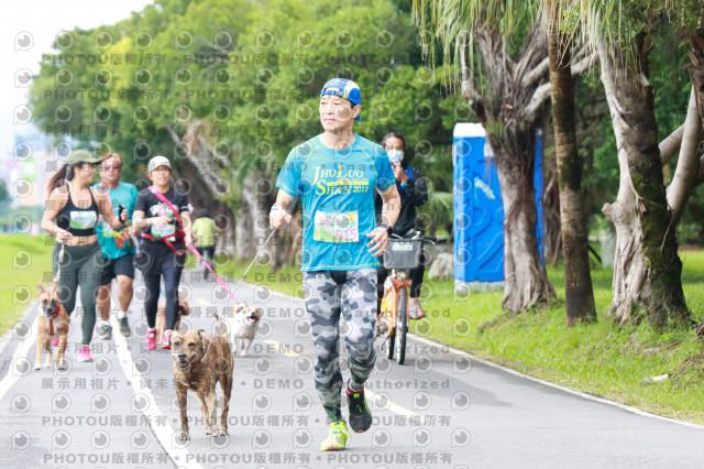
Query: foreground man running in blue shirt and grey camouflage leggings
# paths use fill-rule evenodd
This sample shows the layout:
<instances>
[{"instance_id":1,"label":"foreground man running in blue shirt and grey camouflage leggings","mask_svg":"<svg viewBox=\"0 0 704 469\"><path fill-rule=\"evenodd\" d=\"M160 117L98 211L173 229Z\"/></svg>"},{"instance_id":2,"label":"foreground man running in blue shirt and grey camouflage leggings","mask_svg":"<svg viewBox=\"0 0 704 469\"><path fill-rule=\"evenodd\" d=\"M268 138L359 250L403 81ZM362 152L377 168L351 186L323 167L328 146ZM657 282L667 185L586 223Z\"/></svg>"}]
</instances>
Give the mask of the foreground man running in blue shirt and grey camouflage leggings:
<instances>
[{"instance_id":1,"label":"foreground man running in blue shirt and grey camouflage leggings","mask_svg":"<svg viewBox=\"0 0 704 469\"><path fill-rule=\"evenodd\" d=\"M364 383L374 369L376 266L398 217L400 199L384 149L354 133L361 120L362 92L349 79L333 78L320 92L323 133L294 148L278 176L272 227L292 220L301 198L304 243L300 255L306 308L316 349L316 390L328 416L328 437L320 450L339 450L349 438L340 410L342 373L338 341L340 314L351 378L346 383L350 427L372 425ZM377 225L374 190L383 198Z\"/></svg>"}]
</instances>

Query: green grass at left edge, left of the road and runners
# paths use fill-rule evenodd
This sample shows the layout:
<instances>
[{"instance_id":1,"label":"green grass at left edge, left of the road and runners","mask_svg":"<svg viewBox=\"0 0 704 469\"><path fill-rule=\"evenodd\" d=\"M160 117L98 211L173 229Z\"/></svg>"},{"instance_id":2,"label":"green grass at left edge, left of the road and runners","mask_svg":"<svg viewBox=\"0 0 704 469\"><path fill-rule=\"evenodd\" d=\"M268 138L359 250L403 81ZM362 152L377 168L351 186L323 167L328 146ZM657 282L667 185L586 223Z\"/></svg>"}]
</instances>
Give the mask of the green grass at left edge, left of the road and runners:
<instances>
[{"instance_id":1,"label":"green grass at left edge, left of the road and runners","mask_svg":"<svg viewBox=\"0 0 704 469\"><path fill-rule=\"evenodd\" d=\"M52 276L52 248L43 236L0 234L0 335L10 329L36 298L40 280L48 287ZM29 295L29 296L28 296Z\"/></svg>"}]
</instances>

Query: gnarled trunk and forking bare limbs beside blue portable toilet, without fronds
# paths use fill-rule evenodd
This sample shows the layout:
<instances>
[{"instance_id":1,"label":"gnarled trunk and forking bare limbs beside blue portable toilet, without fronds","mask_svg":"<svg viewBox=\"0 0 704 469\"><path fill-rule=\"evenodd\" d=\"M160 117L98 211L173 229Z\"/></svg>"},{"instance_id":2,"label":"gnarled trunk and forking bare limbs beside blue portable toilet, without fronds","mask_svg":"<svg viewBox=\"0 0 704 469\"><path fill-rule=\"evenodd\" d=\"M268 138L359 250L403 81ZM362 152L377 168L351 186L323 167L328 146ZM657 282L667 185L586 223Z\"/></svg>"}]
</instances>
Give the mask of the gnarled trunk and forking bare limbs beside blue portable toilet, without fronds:
<instances>
[{"instance_id":1,"label":"gnarled trunk and forking bare limbs beside blue portable toilet, without fronds","mask_svg":"<svg viewBox=\"0 0 704 469\"><path fill-rule=\"evenodd\" d=\"M492 25L479 29L475 41L487 76L486 96L474 86L468 36L460 54L462 96L494 151L505 214L502 307L518 314L556 297L538 250L534 184L536 122L544 116L542 103L548 98L538 91L548 72L541 66L544 31L539 22L534 24L516 62L509 58L506 37Z\"/></svg>"}]
</instances>

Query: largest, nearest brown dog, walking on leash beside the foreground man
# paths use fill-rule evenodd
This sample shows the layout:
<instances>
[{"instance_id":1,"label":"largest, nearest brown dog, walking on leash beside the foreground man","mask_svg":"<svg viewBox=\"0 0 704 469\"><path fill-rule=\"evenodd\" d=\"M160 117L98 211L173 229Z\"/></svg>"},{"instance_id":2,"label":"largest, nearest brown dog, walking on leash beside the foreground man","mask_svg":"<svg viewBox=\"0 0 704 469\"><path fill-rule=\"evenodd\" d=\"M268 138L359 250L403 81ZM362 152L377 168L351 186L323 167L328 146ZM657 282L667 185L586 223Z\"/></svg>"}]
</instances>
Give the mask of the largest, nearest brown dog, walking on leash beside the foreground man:
<instances>
[{"instance_id":1,"label":"largest, nearest brown dog, walking on leash beside the foreground man","mask_svg":"<svg viewBox=\"0 0 704 469\"><path fill-rule=\"evenodd\" d=\"M232 368L234 360L230 353L230 345L224 336L202 334L202 329L189 330L186 334L174 331L169 337L172 357L174 359L174 383L180 413L180 434L178 439L190 439L188 435L187 392L195 391L200 399L206 435L228 435L228 412L232 393ZM208 348L210 347L210 348ZM205 360L204 360L205 357ZM220 428L218 417L218 397L216 384L220 382L223 394Z\"/></svg>"}]
</instances>

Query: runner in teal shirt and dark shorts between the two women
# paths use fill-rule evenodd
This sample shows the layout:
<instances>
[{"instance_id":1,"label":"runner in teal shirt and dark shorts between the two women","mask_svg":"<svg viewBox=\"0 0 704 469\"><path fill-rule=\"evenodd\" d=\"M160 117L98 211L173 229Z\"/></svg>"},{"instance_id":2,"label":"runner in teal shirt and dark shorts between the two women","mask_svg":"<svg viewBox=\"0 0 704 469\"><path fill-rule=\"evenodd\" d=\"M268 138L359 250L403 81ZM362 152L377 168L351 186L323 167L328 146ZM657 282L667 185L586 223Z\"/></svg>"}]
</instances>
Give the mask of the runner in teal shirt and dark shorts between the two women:
<instances>
[{"instance_id":1,"label":"runner in teal shirt and dark shorts between the two women","mask_svg":"<svg viewBox=\"0 0 704 469\"><path fill-rule=\"evenodd\" d=\"M120 207L128 210L132 217L134 203L136 201L138 189L134 185L120 181L122 174L122 156L119 153L108 153L102 155L100 164L100 183L92 186L97 192L103 193L108 206L118 212ZM120 334L130 337L130 323L128 320L128 308L132 302L132 281L134 280L134 253L136 248L132 242L134 228L129 227L123 230L113 230L103 219L96 225L98 242L103 259L102 280L100 292L98 293L97 308L102 324L98 327L98 338L109 340L112 337L110 326L110 291L112 280L118 282L118 321Z\"/></svg>"}]
</instances>

